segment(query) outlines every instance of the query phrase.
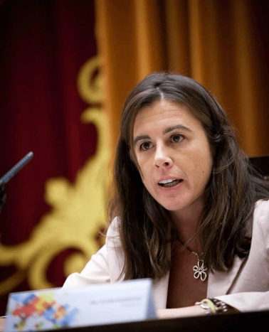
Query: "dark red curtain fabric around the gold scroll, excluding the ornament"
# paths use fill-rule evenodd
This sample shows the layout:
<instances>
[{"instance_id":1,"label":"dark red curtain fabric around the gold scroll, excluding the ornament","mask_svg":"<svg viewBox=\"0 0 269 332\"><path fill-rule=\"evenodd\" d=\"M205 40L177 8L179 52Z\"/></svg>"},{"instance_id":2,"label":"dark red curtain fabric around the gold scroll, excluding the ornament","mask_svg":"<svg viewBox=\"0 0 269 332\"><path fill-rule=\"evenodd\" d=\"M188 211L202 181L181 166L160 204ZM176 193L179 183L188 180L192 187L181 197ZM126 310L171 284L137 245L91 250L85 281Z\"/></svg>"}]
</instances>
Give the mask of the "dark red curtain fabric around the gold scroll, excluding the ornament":
<instances>
[{"instance_id":1,"label":"dark red curtain fabric around the gold scroll, excluding the ornament","mask_svg":"<svg viewBox=\"0 0 269 332\"><path fill-rule=\"evenodd\" d=\"M0 2L0 177L28 151L34 153L6 183L3 245L27 241L48 212L43 198L48 178L63 176L72 183L95 154L97 133L93 124L80 121L88 105L77 89L80 68L95 55L93 0ZM56 259L48 270L56 287L65 279L61 262ZM0 282L13 273L14 267L0 267ZM28 287L25 276L8 291ZM1 295L3 315L8 294Z\"/></svg>"}]
</instances>

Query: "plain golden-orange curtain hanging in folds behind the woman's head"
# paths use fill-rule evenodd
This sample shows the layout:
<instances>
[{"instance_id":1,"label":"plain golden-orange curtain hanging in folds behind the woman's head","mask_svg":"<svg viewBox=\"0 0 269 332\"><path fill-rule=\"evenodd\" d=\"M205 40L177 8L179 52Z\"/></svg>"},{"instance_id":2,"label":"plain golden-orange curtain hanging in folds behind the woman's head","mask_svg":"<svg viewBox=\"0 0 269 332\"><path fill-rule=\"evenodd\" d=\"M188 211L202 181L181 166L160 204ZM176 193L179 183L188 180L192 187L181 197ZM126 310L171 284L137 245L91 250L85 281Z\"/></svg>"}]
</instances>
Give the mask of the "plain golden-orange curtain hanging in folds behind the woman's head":
<instances>
[{"instance_id":1,"label":"plain golden-orange curtain hanging in folds behind the woman's head","mask_svg":"<svg viewBox=\"0 0 269 332\"><path fill-rule=\"evenodd\" d=\"M205 85L249 156L269 154L268 6L253 0L95 0L112 149L122 104L155 70Z\"/></svg>"}]
</instances>

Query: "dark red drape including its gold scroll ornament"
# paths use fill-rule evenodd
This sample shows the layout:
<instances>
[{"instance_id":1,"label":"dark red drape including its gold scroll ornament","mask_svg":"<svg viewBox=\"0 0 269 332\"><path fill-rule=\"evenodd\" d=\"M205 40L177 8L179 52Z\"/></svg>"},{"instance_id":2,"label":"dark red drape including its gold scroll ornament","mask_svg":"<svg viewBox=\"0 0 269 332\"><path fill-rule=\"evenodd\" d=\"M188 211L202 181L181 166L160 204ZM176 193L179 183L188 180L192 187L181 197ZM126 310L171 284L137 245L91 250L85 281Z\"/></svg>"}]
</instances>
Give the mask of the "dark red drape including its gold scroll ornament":
<instances>
[{"instance_id":1,"label":"dark red drape including its gold scroll ornament","mask_svg":"<svg viewBox=\"0 0 269 332\"><path fill-rule=\"evenodd\" d=\"M98 72L93 0L1 1L0 177L34 156L5 185L0 315L10 291L61 286L69 250L77 270L99 247Z\"/></svg>"}]
</instances>

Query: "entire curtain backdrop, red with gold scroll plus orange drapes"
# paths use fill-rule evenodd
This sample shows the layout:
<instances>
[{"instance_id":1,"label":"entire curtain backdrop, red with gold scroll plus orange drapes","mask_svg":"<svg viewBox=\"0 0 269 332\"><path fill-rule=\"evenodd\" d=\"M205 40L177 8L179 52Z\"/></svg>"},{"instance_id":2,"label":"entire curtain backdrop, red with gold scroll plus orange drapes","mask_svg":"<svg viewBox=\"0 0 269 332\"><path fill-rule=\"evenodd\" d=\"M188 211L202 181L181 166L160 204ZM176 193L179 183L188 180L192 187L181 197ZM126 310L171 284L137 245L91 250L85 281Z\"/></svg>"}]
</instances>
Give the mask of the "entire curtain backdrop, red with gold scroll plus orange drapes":
<instances>
[{"instance_id":1,"label":"entire curtain backdrop, red with gold scroll plus orange drapes","mask_svg":"<svg viewBox=\"0 0 269 332\"><path fill-rule=\"evenodd\" d=\"M102 245L119 118L172 70L226 108L248 156L269 154L268 0L0 0L0 315L11 291L60 287Z\"/></svg>"}]
</instances>

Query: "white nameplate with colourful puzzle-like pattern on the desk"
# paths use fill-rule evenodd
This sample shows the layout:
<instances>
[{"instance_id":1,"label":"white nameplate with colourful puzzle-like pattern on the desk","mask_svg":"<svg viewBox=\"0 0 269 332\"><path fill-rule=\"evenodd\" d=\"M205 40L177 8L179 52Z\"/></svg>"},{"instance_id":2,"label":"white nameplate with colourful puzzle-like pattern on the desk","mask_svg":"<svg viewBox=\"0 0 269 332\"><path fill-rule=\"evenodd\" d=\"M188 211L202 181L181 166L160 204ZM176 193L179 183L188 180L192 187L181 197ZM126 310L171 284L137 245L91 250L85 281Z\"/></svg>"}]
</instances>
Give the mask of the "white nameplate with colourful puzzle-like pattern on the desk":
<instances>
[{"instance_id":1,"label":"white nameplate with colourful puzzle-like pattern on the desk","mask_svg":"<svg viewBox=\"0 0 269 332\"><path fill-rule=\"evenodd\" d=\"M4 332L153 319L152 279L10 293L6 316Z\"/></svg>"}]
</instances>

